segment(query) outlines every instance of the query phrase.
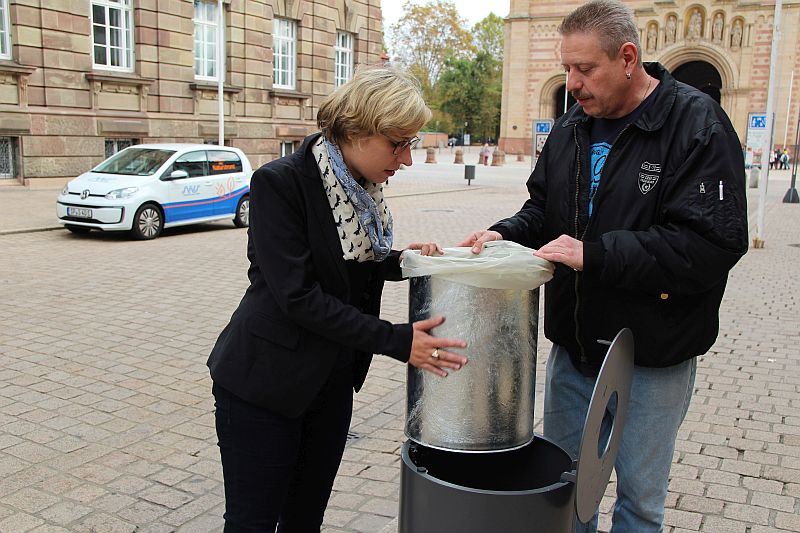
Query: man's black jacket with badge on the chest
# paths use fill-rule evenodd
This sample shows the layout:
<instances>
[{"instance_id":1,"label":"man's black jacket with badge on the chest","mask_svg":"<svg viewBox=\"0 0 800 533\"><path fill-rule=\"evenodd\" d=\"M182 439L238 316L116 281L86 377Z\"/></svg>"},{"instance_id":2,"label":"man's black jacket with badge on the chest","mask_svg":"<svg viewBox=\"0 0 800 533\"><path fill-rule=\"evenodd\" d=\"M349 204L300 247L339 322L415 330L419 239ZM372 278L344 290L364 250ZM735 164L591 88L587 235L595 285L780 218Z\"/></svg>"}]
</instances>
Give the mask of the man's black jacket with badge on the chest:
<instances>
[{"instance_id":1,"label":"man's black jacket with badge on the chest","mask_svg":"<svg viewBox=\"0 0 800 533\"><path fill-rule=\"evenodd\" d=\"M588 217L591 117L573 106L555 124L528 180L530 200L491 229L538 248L567 234L584 269L558 265L545 288L545 335L596 372L624 327L636 364L705 353L719 332L728 271L747 251L744 161L724 111L661 65L652 102L614 141Z\"/></svg>"}]
</instances>

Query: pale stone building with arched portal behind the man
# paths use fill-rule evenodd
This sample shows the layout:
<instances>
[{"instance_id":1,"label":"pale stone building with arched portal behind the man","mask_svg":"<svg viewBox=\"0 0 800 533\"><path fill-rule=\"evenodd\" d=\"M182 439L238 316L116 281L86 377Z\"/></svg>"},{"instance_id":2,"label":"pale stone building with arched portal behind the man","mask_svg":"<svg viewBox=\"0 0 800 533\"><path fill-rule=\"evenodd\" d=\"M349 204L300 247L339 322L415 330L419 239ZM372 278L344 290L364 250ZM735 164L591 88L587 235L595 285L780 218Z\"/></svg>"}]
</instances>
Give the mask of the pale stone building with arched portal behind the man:
<instances>
[{"instance_id":1,"label":"pale stone building with arched portal behind the man","mask_svg":"<svg viewBox=\"0 0 800 533\"><path fill-rule=\"evenodd\" d=\"M766 113L770 69L777 147L794 145L800 110L800 1L783 2L778 64L770 65L775 4L754 0L629 1L644 61L715 98L745 142L749 113ZM511 0L506 18L500 146L531 153L536 119L564 112L565 75L557 28L581 2ZM792 80L792 71L794 79ZM790 91L791 85L791 91ZM568 104L574 100L569 96Z\"/></svg>"}]
</instances>

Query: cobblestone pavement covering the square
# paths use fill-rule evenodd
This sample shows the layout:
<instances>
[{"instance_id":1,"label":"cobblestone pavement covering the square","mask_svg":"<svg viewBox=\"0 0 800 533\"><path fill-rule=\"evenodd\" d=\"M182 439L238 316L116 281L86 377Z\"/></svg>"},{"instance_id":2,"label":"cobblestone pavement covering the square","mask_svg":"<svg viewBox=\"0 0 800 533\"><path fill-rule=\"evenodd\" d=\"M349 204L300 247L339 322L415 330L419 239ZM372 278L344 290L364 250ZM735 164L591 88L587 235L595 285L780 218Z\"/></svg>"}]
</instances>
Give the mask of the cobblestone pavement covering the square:
<instances>
[{"instance_id":1,"label":"cobblestone pavement covering the square","mask_svg":"<svg viewBox=\"0 0 800 533\"><path fill-rule=\"evenodd\" d=\"M524 198L523 164L486 170L472 187L460 176L426 182L430 169L392 179L399 246L452 245ZM734 269L719 340L699 362L668 532L800 532L800 206L780 203L787 186L786 175L771 178L766 247ZM0 211L12 196L15 212L52 209L55 192L37 203L34 191L0 190ZM221 530L205 360L246 287L245 231L215 223L151 242L8 232L30 227L0 218L0 532ZM386 318L405 320L406 292L406 283L388 285ZM539 338L541 385L550 345ZM405 367L376 357L355 402L324 531L389 533ZM604 529L613 488L601 503Z\"/></svg>"}]
</instances>

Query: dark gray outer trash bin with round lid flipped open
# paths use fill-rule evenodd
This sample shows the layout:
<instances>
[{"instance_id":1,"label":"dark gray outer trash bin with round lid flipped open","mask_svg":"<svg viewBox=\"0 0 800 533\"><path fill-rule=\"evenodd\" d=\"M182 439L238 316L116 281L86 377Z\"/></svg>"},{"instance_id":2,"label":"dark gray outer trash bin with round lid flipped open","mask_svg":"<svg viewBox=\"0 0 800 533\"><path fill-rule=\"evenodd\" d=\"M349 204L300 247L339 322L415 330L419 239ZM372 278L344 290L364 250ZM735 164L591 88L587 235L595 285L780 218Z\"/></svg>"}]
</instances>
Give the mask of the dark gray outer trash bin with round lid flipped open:
<instances>
[{"instance_id":1,"label":"dark gray outer trash bin with round lid flipped open","mask_svg":"<svg viewBox=\"0 0 800 533\"><path fill-rule=\"evenodd\" d=\"M633 334L611 343L595 384L577 461L541 437L510 451L469 453L407 441L401 451L400 533L572 533L587 522L614 467L633 376ZM617 404L601 442L609 402Z\"/></svg>"}]
</instances>

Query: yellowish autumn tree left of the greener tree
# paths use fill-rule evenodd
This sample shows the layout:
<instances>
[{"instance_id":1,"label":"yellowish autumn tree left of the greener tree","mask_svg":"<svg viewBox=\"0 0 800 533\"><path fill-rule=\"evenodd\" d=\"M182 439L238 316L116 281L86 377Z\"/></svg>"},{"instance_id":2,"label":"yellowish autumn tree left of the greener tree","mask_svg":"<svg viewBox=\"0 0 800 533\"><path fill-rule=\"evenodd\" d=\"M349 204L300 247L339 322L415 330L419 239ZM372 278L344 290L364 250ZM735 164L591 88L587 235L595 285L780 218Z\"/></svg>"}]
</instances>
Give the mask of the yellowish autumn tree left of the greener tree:
<instances>
[{"instance_id":1,"label":"yellowish autumn tree left of the greener tree","mask_svg":"<svg viewBox=\"0 0 800 533\"><path fill-rule=\"evenodd\" d=\"M430 99L446 59L473 53L472 35L452 0L431 0L425 5L407 0L403 11L390 27L392 55L419 78Z\"/></svg>"}]
</instances>

